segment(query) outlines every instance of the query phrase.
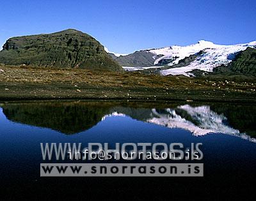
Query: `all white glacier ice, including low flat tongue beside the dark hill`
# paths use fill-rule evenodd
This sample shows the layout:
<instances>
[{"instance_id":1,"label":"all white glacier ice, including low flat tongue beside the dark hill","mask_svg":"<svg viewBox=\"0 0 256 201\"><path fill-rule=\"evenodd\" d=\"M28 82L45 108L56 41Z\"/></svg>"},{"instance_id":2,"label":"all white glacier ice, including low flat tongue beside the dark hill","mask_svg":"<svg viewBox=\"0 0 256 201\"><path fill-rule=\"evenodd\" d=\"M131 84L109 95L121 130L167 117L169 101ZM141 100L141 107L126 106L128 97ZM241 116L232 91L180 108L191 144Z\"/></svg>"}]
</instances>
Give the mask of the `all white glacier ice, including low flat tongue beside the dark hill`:
<instances>
[{"instance_id":1,"label":"all white glacier ice, including low flat tongue beside the dark hill","mask_svg":"<svg viewBox=\"0 0 256 201\"><path fill-rule=\"evenodd\" d=\"M238 52L246 50L246 48L256 47L256 41L250 43L243 43L237 45L217 45L211 41L200 40L198 43L187 46L173 45L171 47L164 48L152 48L147 50L154 54L153 58L157 59L154 64L157 65L159 61L163 59L171 59L172 62L168 63L167 66L170 68L161 70L164 66L150 66L150 67L129 67L123 66L124 70L127 71L137 71L146 70L149 68L159 68L161 75L185 75L190 77L192 74L189 73L193 70L203 70L212 71L214 68L220 65L227 65L234 59ZM198 52L204 51L202 54L198 55L195 61L192 61L188 66L183 66L179 68L172 68L173 65L178 64L180 60L191 55L198 54ZM115 54L116 56L118 54Z\"/></svg>"}]
</instances>

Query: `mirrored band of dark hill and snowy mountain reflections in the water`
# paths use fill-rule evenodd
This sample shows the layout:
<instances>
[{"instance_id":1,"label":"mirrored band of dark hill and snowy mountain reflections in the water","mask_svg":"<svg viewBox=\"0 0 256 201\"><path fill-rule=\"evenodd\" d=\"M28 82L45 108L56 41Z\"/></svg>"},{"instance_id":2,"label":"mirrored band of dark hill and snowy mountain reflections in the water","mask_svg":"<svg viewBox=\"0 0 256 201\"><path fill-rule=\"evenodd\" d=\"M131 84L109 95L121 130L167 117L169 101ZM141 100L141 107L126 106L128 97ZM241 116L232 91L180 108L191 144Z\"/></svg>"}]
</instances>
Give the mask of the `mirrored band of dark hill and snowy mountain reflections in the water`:
<instances>
[{"instance_id":1,"label":"mirrored band of dark hill and snowy mountain reflections in the water","mask_svg":"<svg viewBox=\"0 0 256 201\"><path fill-rule=\"evenodd\" d=\"M51 128L65 134L88 130L108 117L129 116L146 123L188 130L195 136L223 133L256 142L253 105L49 101L4 103L1 107L10 121Z\"/></svg>"}]
</instances>

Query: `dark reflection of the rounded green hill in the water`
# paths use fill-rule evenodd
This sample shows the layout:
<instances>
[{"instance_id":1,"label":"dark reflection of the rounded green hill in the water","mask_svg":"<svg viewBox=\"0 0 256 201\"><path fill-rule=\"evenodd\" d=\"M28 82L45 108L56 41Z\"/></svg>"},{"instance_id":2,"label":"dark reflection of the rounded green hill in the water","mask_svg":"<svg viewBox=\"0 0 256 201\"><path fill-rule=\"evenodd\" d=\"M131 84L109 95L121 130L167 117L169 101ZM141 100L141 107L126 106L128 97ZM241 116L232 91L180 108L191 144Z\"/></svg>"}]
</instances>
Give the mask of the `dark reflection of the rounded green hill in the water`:
<instances>
[{"instance_id":1,"label":"dark reflection of the rounded green hill in the water","mask_svg":"<svg viewBox=\"0 0 256 201\"><path fill-rule=\"evenodd\" d=\"M93 103L19 103L5 104L3 113L18 123L74 134L99 123L108 114L108 107Z\"/></svg>"}]
</instances>

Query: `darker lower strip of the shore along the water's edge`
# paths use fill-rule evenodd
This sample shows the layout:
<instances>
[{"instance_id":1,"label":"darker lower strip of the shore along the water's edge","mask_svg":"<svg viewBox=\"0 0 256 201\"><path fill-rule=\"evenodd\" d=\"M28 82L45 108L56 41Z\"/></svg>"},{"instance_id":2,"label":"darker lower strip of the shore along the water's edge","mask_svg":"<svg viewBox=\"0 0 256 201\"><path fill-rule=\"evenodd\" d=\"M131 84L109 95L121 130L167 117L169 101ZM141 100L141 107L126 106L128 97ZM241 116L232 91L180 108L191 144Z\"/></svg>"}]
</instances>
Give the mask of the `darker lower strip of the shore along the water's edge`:
<instances>
[{"instance_id":1,"label":"darker lower strip of the shore along the water's edge","mask_svg":"<svg viewBox=\"0 0 256 201\"><path fill-rule=\"evenodd\" d=\"M7 88L8 87L8 88ZM8 90L6 90L8 89ZM256 103L256 93L216 89L150 89L67 86L63 84L0 83L1 101L104 100L104 101L211 101Z\"/></svg>"}]
</instances>

